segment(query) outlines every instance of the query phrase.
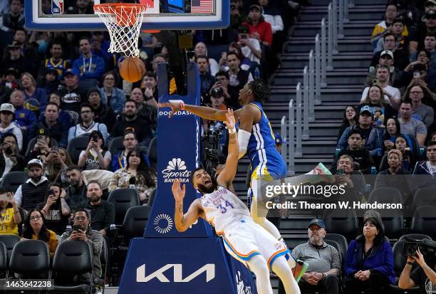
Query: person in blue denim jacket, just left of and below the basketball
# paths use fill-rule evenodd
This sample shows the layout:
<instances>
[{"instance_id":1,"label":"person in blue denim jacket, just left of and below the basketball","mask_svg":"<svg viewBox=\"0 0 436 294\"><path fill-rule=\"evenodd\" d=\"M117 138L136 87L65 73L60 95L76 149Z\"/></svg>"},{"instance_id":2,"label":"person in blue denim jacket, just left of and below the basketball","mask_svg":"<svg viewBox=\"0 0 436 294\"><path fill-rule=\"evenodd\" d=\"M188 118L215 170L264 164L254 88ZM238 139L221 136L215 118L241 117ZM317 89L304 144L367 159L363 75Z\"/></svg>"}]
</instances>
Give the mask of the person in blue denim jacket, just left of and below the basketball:
<instances>
[{"instance_id":1,"label":"person in blue denim jacket, just left of and below the basketball","mask_svg":"<svg viewBox=\"0 0 436 294\"><path fill-rule=\"evenodd\" d=\"M123 90L116 88L118 78L115 72L109 71L103 75L103 87L99 88L103 104L109 105L115 114L121 113L125 103L125 93ZM88 90L88 96L90 91Z\"/></svg>"}]
</instances>

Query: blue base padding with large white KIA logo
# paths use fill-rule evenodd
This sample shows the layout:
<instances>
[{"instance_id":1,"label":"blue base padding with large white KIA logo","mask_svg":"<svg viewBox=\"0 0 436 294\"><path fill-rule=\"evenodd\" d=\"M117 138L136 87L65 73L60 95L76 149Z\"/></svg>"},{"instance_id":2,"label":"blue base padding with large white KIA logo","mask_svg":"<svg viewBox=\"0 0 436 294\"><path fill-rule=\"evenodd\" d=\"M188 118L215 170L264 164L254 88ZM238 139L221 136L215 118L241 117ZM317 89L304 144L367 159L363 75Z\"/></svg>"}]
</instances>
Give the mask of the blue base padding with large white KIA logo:
<instances>
[{"instance_id":1,"label":"blue base padding with large white KIA logo","mask_svg":"<svg viewBox=\"0 0 436 294\"><path fill-rule=\"evenodd\" d=\"M120 294L255 294L253 276L229 261L220 238L134 238Z\"/></svg>"}]
</instances>

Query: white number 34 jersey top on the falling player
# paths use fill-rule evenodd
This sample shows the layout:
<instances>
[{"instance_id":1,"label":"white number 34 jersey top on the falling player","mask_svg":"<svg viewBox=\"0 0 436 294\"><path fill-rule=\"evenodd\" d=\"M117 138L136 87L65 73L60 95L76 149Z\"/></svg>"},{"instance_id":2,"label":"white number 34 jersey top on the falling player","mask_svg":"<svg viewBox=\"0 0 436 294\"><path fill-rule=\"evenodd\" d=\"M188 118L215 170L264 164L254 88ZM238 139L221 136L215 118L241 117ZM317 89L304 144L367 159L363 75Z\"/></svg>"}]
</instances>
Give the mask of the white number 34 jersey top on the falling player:
<instances>
[{"instance_id":1,"label":"white number 34 jersey top on the falling player","mask_svg":"<svg viewBox=\"0 0 436 294\"><path fill-rule=\"evenodd\" d=\"M222 233L229 224L237 223L247 216L251 217L244 202L224 187L204 194L200 202L207 221L215 227L217 233Z\"/></svg>"}]
</instances>

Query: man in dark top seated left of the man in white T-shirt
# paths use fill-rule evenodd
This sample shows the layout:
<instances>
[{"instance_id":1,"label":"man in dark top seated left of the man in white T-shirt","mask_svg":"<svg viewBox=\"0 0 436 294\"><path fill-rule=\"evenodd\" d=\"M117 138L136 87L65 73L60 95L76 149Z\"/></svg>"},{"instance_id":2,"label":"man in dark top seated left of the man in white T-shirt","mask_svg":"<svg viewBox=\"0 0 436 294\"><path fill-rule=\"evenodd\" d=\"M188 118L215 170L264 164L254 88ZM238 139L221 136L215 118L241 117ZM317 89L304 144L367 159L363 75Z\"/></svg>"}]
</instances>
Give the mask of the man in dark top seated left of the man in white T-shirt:
<instances>
[{"instance_id":1,"label":"man in dark top seated left of the man in white T-shirt","mask_svg":"<svg viewBox=\"0 0 436 294\"><path fill-rule=\"evenodd\" d=\"M50 136L58 142L58 146L65 148L68 143L68 127L59 121L58 117L58 105L56 103L48 103L43 120L33 125L33 130L31 130L29 137L36 137L39 130L46 129Z\"/></svg>"}]
</instances>

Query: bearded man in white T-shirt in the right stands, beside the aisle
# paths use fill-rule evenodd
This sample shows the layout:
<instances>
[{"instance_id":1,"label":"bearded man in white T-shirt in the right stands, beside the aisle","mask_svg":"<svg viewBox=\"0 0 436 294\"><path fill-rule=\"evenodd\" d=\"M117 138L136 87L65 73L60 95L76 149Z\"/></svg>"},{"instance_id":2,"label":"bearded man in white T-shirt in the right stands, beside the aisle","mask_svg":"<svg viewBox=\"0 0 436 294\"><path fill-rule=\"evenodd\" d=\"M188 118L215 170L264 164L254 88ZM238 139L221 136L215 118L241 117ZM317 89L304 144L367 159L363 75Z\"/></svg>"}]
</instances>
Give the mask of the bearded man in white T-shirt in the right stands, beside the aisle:
<instances>
[{"instance_id":1,"label":"bearded man in white T-shirt in the right stands, beside the aisle","mask_svg":"<svg viewBox=\"0 0 436 294\"><path fill-rule=\"evenodd\" d=\"M389 85L390 69L387 65L377 65L375 72L377 78L377 84L383 89L385 103L391 105L394 109L398 109L401 102L400 90ZM366 87L363 90L360 103L368 96L370 87Z\"/></svg>"}]
</instances>

